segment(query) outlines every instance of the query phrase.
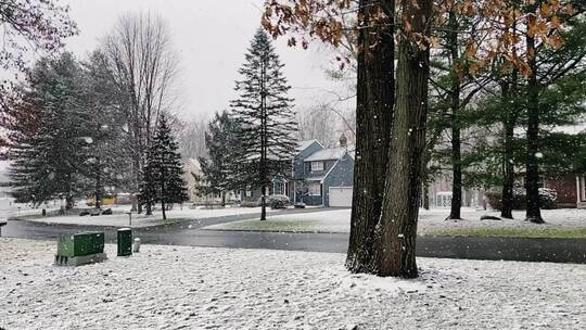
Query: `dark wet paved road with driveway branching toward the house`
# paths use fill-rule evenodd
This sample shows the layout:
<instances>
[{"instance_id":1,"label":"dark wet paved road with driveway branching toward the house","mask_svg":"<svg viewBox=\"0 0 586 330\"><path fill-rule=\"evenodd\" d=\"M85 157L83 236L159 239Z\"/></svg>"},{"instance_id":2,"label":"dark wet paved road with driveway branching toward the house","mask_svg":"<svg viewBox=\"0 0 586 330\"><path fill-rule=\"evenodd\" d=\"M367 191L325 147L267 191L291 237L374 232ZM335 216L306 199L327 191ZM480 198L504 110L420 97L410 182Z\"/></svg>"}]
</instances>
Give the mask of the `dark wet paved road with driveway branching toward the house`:
<instances>
[{"instance_id":1,"label":"dark wet paved road with driveway branching toward the house","mask_svg":"<svg viewBox=\"0 0 586 330\"><path fill-rule=\"evenodd\" d=\"M207 225L255 218L256 216L227 216L184 221L164 227L137 228L135 229L135 237L140 237L143 243L150 244L346 252L348 243L346 233L281 233L200 229ZM2 234L53 240L62 233L85 230L105 231L106 241L115 242L116 228L112 227L55 226L18 220L9 221L9 225L3 227ZM417 254L429 257L586 264L586 240L420 237L418 239Z\"/></svg>"}]
</instances>

